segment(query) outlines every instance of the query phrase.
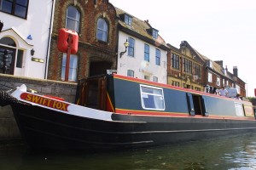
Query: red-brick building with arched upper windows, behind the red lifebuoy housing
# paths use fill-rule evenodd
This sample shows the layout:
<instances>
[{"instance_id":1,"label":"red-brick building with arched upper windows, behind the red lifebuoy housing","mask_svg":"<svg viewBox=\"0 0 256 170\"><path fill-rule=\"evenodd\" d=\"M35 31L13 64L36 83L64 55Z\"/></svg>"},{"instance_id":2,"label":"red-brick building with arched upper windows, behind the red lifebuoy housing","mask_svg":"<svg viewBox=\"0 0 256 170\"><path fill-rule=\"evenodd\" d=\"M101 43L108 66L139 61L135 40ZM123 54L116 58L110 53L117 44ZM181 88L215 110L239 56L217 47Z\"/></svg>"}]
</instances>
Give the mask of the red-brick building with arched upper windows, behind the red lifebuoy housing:
<instances>
[{"instance_id":1,"label":"red-brick building with arched upper windows, behind the red lifebuoy housing","mask_svg":"<svg viewBox=\"0 0 256 170\"><path fill-rule=\"evenodd\" d=\"M108 0L55 1L48 79L64 80L66 56L57 49L58 31L78 32L79 50L71 55L69 82L116 69L118 20Z\"/></svg>"}]
</instances>

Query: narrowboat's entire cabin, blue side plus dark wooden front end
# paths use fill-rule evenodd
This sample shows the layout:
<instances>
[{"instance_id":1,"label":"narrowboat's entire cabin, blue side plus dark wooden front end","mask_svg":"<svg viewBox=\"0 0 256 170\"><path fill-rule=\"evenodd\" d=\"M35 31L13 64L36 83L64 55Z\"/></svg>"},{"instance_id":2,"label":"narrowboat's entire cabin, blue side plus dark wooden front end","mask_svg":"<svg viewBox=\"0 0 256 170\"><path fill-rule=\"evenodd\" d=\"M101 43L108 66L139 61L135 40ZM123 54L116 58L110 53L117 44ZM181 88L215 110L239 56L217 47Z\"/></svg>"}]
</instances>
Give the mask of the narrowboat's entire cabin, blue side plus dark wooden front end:
<instances>
[{"instance_id":1,"label":"narrowboat's entire cabin, blue side plus dark wooden front end","mask_svg":"<svg viewBox=\"0 0 256 170\"><path fill-rule=\"evenodd\" d=\"M250 102L117 74L79 81L77 104L117 114L254 119Z\"/></svg>"}]
</instances>

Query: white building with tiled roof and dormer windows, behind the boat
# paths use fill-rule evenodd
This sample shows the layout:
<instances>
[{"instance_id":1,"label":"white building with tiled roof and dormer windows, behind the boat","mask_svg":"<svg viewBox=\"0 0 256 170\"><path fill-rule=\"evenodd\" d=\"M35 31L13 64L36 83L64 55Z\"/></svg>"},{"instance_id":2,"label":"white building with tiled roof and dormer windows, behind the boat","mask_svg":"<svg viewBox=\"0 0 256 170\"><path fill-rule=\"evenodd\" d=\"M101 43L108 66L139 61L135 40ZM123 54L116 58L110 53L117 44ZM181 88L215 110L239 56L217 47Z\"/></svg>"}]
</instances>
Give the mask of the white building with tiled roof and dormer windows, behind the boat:
<instances>
[{"instance_id":1,"label":"white building with tiled roof and dormer windows, behind the boat","mask_svg":"<svg viewBox=\"0 0 256 170\"><path fill-rule=\"evenodd\" d=\"M166 42L148 21L139 20L116 8L119 15L117 73L152 82L167 82ZM129 42L126 48L124 43Z\"/></svg>"}]
</instances>

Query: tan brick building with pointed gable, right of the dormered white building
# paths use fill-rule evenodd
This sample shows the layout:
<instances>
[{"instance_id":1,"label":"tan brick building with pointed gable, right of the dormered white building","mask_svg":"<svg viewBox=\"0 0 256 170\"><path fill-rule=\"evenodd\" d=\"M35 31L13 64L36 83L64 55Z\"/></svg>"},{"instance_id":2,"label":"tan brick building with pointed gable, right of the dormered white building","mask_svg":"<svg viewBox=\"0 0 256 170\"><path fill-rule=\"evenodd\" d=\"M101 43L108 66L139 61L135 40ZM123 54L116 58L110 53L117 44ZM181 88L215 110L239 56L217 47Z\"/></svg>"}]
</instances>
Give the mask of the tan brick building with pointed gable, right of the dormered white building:
<instances>
[{"instance_id":1,"label":"tan brick building with pointed gable, right of the dormered white building","mask_svg":"<svg viewBox=\"0 0 256 170\"><path fill-rule=\"evenodd\" d=\"M181 42L180 48L168 46L171 49L167 54L168 84L203 91L204 60L201 56L186 41Z\"/></svg>"}]
</instances>

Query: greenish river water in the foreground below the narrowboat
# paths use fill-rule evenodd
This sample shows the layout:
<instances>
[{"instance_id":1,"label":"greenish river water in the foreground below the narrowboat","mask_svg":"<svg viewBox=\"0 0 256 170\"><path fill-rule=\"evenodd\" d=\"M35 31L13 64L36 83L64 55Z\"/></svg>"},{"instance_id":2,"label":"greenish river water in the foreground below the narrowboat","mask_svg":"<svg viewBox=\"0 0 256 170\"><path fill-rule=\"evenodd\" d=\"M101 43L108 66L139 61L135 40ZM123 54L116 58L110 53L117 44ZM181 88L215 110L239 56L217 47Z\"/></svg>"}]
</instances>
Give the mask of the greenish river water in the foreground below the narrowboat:
<instances>
[{"instance_id":1,"label":"greenish river water in the foreground below the narrowboat","mask_svg":"<svg viewBox=\"0 0 256 170\"><path fill-rule=\"evenodd\" d=\"M113 153L37 152L0 144L0 170L256 169L256 133Z\"/></svg>"}]
</instances>

